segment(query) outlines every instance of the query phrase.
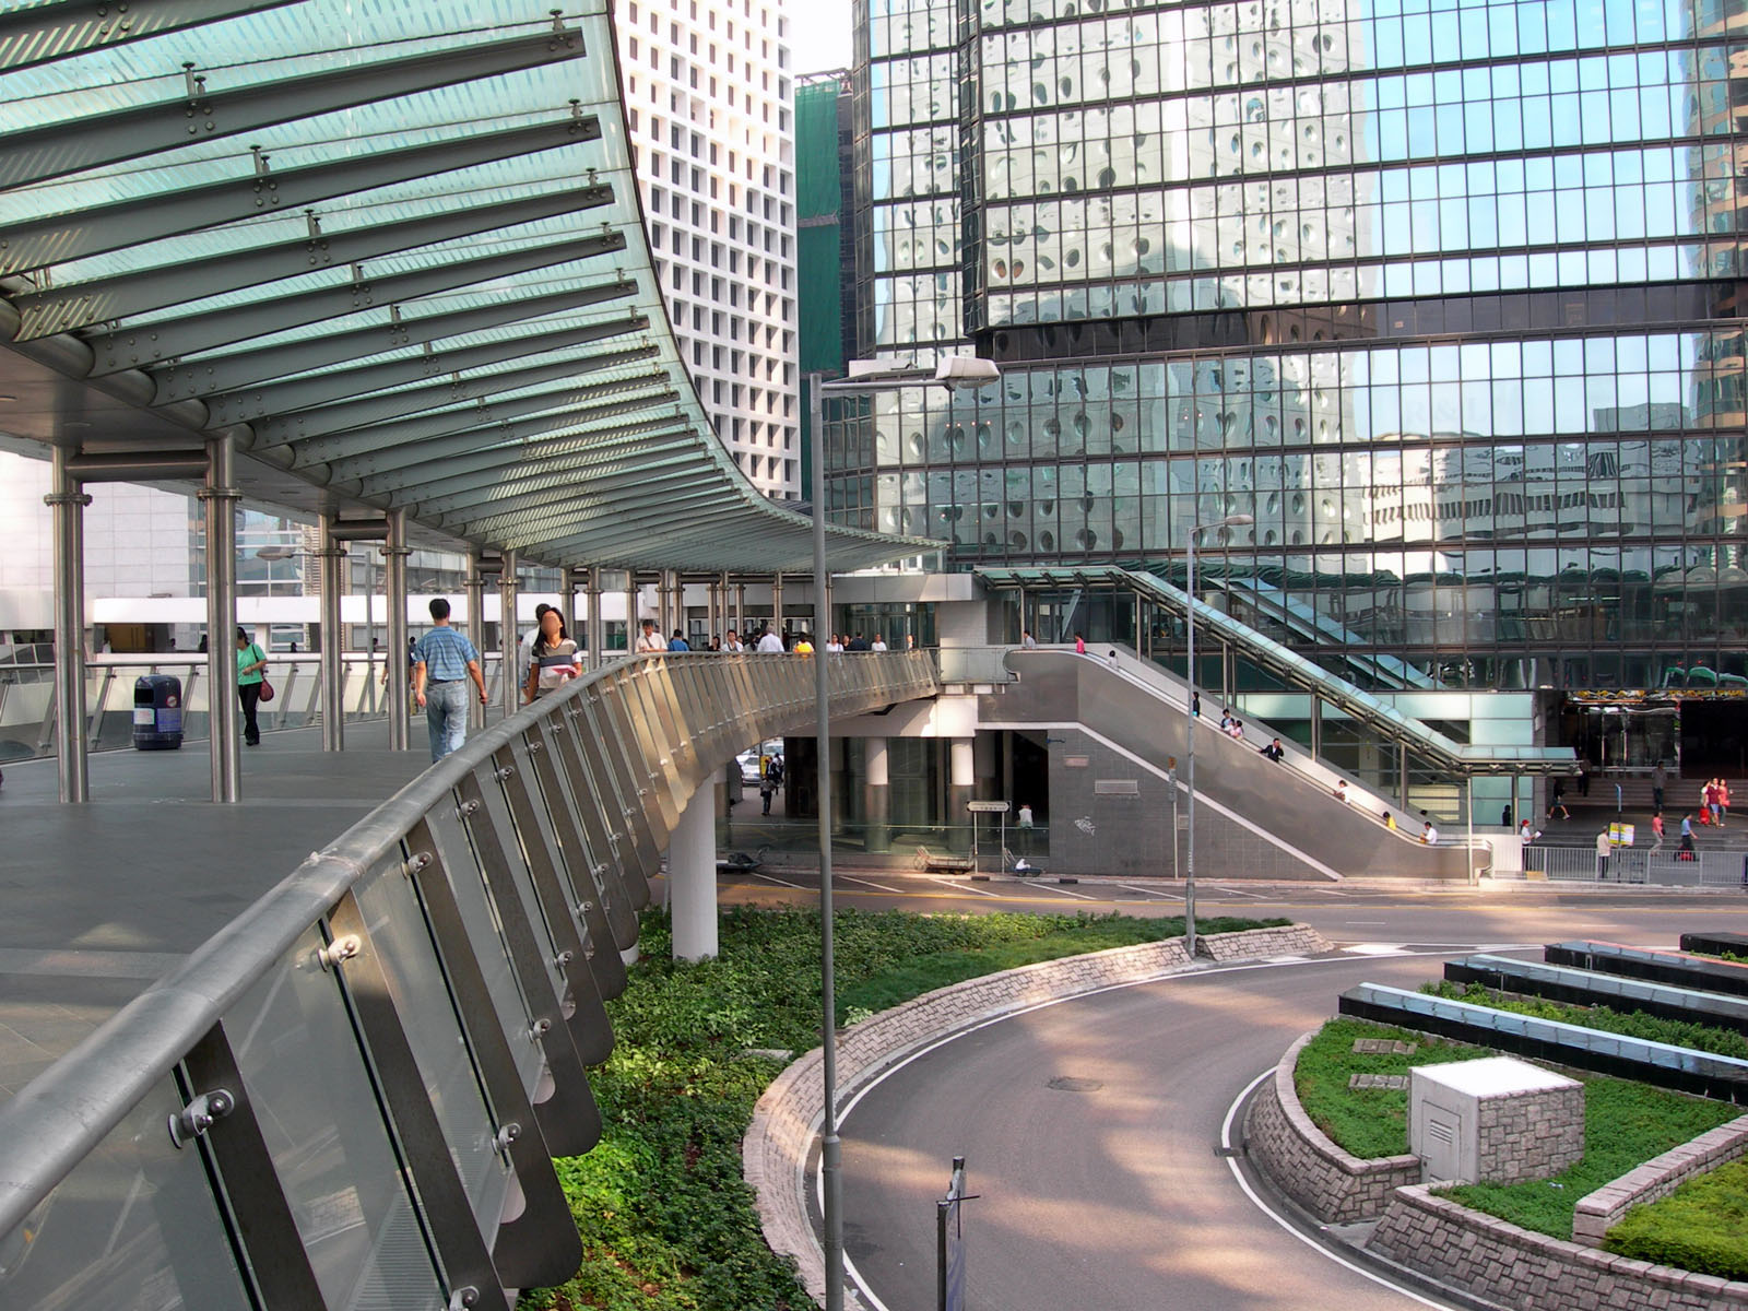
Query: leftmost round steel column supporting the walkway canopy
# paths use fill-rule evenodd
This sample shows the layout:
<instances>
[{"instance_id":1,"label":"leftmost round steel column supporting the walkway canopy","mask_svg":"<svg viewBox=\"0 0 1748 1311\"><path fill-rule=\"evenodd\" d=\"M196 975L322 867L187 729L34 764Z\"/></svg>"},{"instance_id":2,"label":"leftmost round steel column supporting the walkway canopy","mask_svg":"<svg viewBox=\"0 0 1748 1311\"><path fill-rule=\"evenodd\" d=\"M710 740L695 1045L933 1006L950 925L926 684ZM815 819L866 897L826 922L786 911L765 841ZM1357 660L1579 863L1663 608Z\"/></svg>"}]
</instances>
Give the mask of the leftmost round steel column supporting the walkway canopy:
<instances>
[{"instance_id":1,"label":"leftmost round steel column supporting the walkway canopy","mask_svg":"<svg viewBox=\"0 0 1748 1311\"><path fill-rule=\"evenodd\" d=\"M66 472L68 451L52 449L54 489L44 503L54 510L54 732L56 780L61 801L91 801L89 724L86 715L86 505L84 484ZM206 635L208 650L231 659L231 631Z\"/></svg>"}]
</instances>

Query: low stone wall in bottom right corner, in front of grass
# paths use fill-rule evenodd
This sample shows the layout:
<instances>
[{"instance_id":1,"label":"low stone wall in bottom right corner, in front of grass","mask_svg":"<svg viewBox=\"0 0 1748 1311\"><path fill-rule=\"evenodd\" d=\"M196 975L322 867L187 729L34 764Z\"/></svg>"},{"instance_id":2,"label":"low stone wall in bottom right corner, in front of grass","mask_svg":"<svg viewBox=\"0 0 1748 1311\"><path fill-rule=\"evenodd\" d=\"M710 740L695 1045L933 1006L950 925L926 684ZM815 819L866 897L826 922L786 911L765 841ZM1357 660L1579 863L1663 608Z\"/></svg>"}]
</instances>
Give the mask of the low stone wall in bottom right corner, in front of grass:
<instances>
[{"instance_id":1,"label":"low stone wall in bottom right corner, in front of grass","mask_svg":"<svg viewBox=\"0 0 1748 1311\"><path fill-rule=\"evenodd\" d=\"M1444 1197L1428 1185L1398 1189L1369 1252L1467 1288L1500 1306L1535 1311L1738 1311L1748 1283L1533 1234Z\"/></svg>"}]
</instances>

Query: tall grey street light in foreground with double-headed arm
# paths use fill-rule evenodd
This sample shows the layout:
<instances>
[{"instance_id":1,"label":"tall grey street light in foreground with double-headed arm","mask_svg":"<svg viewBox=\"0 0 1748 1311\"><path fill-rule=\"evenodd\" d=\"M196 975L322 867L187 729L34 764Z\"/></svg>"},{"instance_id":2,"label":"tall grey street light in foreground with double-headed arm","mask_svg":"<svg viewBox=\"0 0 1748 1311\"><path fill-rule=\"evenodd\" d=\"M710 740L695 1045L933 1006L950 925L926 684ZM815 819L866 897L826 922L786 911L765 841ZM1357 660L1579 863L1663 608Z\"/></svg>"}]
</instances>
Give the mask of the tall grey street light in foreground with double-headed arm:
<instances>
[{"instance_id":1,"label":"tall grey street light in foreground with double-headed arm","mask_svg":"<svg viewBox=\"0 0 1748 1311\"><path fill-rule=\"evenodd\" d=\"M808 374L808 421L813 440L813 636L818 638L825 614L825 393L869 395L874 392L905 392L914 386L939 385L949 392L988 386L1002 376L995 360L947 357L933 371L921 367L888 367L881 362L851 360L848 378L827 383L825 374ZM832 960L832 722L830 687L827 680L830 661L823 643L813 661L813 720L815 752L818 755L820 797L820 1049L825 1113L820 1122L820 1190L825 1227L825 1311L844 1308L844 1208L843 1208L843 1143L837 1138L837 988Z\"/></svg>"}]
</instances>

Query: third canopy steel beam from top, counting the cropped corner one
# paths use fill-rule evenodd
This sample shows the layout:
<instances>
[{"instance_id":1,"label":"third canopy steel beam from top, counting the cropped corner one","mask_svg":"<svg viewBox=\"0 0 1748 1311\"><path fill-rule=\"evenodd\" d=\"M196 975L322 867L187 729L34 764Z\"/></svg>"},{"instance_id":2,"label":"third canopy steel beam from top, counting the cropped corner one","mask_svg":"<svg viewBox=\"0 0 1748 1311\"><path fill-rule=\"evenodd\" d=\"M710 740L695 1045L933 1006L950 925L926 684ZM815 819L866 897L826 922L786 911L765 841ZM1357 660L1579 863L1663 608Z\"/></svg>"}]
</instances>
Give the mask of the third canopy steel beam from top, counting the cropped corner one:
<instances>
[{"instance_id":1,"label":"third canopy steel beam from top, counting the cropped corner one","mask_svg":"<svg viewBox=\"0 0 1748 1311\"><path fill-rule=\"evenodd\" d=\"M0 248L0 274L30 273L199 227L217 227L262 213L283 213L336 196L556 150L600 136L601 124L594 115L584 117L573 112L558 122L447 136L400 150L378 150L288 168L283 173L271 171L262 156L253 161L246 177L9 225L5 248Z\"/></svg>"}]
</instances>

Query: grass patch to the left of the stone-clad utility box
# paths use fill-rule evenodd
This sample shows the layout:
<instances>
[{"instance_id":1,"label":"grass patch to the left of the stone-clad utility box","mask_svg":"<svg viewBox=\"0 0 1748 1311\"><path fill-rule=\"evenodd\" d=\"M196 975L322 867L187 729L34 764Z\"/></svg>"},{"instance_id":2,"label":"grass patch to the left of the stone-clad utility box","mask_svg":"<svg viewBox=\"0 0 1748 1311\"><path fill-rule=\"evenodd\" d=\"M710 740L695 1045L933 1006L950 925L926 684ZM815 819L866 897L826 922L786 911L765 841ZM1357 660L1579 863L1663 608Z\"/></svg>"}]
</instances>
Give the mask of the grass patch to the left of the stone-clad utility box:
<instances>
[{"instance_id":1,"label":"grass patch to the left of the stone-clad utility box","mask_svg":"<svg viewBox=\"0 0 1748 1311\"><path fill-rule=\"evenodd\" d=\"M1419 1044L1412 1056L1353 1051L1356 1038L1393 1038ZM1318 1129L1344 1152L1370 1159L1409 1150L1409 1094L1388 1087L1348 1087L1353 1075L1405 1075L1416 1065L1474 1061L1496 1056L1486 1047L1468 1047L1425 1033L1363 1019L1332 1019L1299 1052L1294 1087L1299 1105Z\"/></svg>"}]
</instances>

